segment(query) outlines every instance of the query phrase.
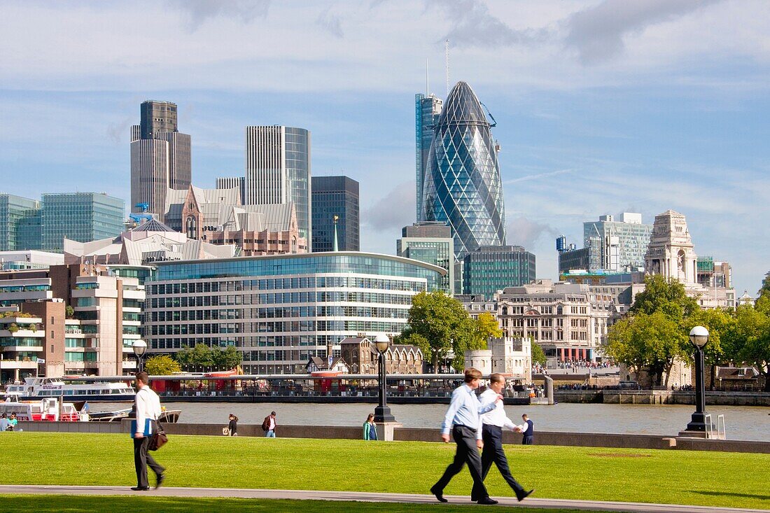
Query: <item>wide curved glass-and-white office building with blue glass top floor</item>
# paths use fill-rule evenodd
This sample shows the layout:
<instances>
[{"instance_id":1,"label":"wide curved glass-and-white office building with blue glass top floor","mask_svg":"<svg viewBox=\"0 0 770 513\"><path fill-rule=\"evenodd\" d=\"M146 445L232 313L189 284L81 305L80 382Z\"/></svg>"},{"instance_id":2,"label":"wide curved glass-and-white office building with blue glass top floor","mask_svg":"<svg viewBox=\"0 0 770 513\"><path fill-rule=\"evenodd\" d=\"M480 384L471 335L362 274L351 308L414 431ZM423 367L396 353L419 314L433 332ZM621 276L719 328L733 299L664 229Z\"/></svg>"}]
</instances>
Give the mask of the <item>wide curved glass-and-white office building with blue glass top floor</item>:
<instances>
[{"instance_id":1,"label":"wide curved glass-and-white office building with blue glass top floor","mask_svg":"<svg viewBox=\"0 0 770 513\"><path fill-rule=\"evenodd\" d=\"M247 374L304 372L340 340L398 334L412 297L439 290L441 267L340 251L156 262L146 282L150 352L234 346Z\"/></svg>"}]
</instances>

